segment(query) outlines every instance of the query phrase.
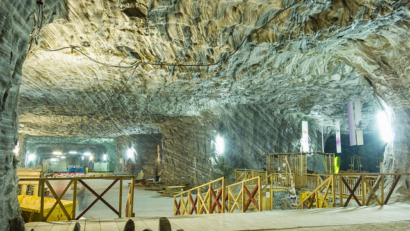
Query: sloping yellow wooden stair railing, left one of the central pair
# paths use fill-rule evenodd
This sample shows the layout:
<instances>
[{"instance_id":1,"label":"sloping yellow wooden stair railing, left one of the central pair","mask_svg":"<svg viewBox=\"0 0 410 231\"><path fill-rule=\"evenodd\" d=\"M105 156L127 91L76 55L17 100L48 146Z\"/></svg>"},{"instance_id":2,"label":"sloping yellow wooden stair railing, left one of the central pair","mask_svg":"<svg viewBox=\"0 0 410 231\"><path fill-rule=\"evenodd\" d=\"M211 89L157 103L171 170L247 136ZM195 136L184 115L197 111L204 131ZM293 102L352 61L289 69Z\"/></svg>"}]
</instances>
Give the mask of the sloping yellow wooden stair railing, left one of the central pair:
<instances>
[{"instance_id":1,"label":"sloping yellow wooden stair railing, left one of the central pair","mask_svg":"<svg viewBox=\"0 0 410 231\"><path fill-rule=\"evenodd\" d=\"M221 177L175 195L174 215L224 213L225 201L226 180Z\"/></svg>"}]
</instances>

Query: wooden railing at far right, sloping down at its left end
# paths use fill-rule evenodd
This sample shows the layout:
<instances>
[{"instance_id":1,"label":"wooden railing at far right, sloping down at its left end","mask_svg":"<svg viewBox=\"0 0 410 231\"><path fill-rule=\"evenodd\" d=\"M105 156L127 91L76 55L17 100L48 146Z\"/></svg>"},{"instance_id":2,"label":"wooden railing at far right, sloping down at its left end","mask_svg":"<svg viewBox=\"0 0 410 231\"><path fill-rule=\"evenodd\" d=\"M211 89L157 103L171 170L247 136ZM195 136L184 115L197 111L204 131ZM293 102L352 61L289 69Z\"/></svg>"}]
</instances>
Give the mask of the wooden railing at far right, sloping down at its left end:
<instances>
[{"instance_id":1,"label":"wooden railing at far right, sloping down at its left end","mask_svg":"<svg viewBox=\"0 0 410 231\"><path fill-rule=\"evenodd\" d=\"M297 208L324 208L349 206L355 201L358 206L369 205L372 201L385 205L401 177L410 173L360 173L331 175L316 189L302 197ZM386 181L389 179L389 181ZM391 184L385 187L387 182ZM346 199L346 200L345 200Z\"/></svg>"}]
</instances>

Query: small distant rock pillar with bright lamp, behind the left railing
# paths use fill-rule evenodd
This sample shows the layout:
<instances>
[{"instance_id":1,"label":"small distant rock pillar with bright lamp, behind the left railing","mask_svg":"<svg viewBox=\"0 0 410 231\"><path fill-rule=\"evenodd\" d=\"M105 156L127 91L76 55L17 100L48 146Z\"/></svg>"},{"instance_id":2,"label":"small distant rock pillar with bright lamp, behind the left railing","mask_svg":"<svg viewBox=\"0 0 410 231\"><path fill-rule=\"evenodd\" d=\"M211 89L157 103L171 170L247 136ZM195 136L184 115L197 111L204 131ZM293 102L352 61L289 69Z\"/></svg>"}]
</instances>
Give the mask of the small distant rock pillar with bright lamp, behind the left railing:
<instances>
[{"instance_id":1,"label":"small distant rock pillar with bright lamp, behind the left railing","mask_svg":"<svg viewBox=\"0 0 410 231\"><path fill-rule=\"evenodd\" d=\"M116 173L137 175L144 171L144 178L157 175L157 145L161 144L161 134L128 135L115 139ZM135 149L132 158L127 156L128 149Z\"/></svg>"}]
</instances>

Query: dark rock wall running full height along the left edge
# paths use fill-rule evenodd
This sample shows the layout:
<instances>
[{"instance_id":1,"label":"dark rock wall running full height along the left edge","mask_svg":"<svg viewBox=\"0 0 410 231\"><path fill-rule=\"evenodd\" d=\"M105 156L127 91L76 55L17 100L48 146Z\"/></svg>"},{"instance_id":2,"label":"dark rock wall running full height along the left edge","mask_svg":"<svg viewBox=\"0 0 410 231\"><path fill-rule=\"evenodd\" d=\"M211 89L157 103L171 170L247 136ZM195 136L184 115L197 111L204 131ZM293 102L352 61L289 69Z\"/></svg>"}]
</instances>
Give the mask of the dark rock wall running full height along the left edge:
<instances>
[{"instance_id":1,"label":"dark rock wall running full height along the left edge","mask_svg":"<svg viewBox=\"0 0 410 231\"><path fill-rule=\"evenodd\" d=\"M62 1L47 6L44 23L61 16L54 13L57 8L64 12ZM12 150L17 144L16 106L23 62L37 9L35 1L0 3L0 231L24 230L17 201L17 160Z\"/></svg>"}]
</instances>

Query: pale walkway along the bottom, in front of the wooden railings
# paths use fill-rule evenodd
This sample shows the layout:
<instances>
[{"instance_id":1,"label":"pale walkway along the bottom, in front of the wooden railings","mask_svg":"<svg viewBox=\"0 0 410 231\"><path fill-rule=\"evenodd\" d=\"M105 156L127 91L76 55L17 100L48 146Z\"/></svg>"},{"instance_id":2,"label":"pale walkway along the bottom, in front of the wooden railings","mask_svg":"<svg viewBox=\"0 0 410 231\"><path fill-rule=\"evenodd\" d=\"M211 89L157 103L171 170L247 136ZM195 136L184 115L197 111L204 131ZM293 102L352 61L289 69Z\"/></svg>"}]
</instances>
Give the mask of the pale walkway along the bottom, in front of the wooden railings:
<instances>
[{"instance_id":1,"label":"pale walkway along the bottom, in front of the wooden railings","mask_svg":"<svg viewBox=\"0 0 410 231\"><path fill-rule=\"evenodd\" d=\"M410 230L410 204L384 207L333 208L312 210L265 211L235 214L170 216L172 229L212 230ZM133 218L136 230L158 230L158 217ZM123 231L127 219L80 221L81 230ZM71 231L71 222L33 222L26 230ZM84 229L85 228L85 229Z\"/></svg>"}]
</instances>

